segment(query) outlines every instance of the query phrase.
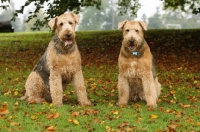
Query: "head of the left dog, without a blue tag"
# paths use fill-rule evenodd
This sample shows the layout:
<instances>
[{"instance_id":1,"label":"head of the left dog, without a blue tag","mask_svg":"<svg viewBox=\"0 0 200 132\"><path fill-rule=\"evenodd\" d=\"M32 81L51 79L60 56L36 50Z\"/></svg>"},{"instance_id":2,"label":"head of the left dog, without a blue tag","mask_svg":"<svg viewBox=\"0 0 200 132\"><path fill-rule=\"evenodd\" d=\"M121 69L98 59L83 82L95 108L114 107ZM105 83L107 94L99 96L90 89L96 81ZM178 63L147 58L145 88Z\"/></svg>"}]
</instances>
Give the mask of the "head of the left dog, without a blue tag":
<instances>
[{"instance_id":1,"label":"head of the left dog, without a blue tag","mask_svg":"<svg viewBox=\"0 0 200 132\"><path fill-rule=\"evenodd\" d=\"M51 19L48 25L51 30L55 30L65 46L69 46L75 42L75 28L79 24L79 18L79 15L70 12Z\"/></svg>"}]
</instances>

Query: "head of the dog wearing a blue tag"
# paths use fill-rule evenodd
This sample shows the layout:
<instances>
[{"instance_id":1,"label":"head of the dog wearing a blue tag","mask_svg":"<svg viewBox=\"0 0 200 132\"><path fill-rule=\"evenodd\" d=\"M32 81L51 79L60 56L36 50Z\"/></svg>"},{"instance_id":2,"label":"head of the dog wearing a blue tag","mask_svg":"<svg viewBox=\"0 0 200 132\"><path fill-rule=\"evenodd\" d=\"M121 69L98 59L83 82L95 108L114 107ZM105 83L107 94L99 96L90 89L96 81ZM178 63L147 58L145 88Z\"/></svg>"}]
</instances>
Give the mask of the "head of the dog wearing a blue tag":
<instances>
[{"instance_id":1,"label":"head of the dog wearing a blue tag","mask_svg":"<svg viewBox=\"0 0 200 132\"><path fill-rule=\"evenodd\" d=\"M147 24L142 21L125 20L118 23L118 28L123 30L123 45L130 51L136 51L144 41L144 30Z\"/></svg>"}]
</instances>

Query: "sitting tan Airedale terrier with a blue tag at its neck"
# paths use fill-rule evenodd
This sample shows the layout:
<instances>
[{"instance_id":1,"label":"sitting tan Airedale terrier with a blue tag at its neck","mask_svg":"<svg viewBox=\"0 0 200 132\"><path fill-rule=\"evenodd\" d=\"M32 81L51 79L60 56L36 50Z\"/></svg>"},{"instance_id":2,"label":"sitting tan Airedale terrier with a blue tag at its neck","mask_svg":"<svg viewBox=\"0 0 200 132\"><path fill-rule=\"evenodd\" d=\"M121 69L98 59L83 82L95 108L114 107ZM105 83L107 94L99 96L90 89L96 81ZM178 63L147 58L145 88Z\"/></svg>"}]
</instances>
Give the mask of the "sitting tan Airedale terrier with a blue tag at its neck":
<instances>
[{"instance_id":1,"label":"sitting tan Airedale terrier with a blue tag at its neck","mask_svg":"<svg viewBox=\"0 0 200 132\"><path fill-rule=\"evenodd\" d=\"M147 24L125 20L118 23L118 28L123 30L118 58L118 105L145 100L147 106L157 107L161 85L156 77L153 56L144 39L143 31L147 30Z\"/></svg>"}]
</instances>

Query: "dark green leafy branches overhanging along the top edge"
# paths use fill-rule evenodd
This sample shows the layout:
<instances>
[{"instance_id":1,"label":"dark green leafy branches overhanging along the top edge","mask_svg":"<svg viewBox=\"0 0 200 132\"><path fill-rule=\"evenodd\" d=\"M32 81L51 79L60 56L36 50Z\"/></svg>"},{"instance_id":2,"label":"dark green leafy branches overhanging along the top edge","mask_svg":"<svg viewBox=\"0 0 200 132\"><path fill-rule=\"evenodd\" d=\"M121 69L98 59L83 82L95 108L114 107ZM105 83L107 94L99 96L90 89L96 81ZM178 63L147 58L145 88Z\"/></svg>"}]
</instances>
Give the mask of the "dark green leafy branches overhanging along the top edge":
<instances>
[{"instance_id":1,"label":"dark green leafy branches overhanging along the top edge","mask_svg":"<svg viewBox=\"0 0 200 132\"><path fill-rule=\"evenodd\" d=\"M16 10L12 20L15 20L18 14L23 13L24 8L31 3L34 3L35 10L33 12L29 12L28 21L37 17L37 12L44 8L44 4L46 3L48 9L44 11L47 16L40 20L38 19L34 24L34 30L39 29L40 27L47 24L50 18L55 16L59 16L66 11L74 11L78 13L81 11L82 7L93 6L97 9L100 9L101 3L103 0L53 0L52 2L48 2L48 0L27 0L26 3L21 6L20 10ZM1 0L2 3L10 2L10 0ZM200 0L165 0L163 1L165 9L176 10L180 8L182 11L191 10L194 14L200 13ZM128 14L129 16L136 16L138 9L140 8L139 0L118 0L118 10L120 15ZM8 6L1 5L3 9L6 9Z\"/></svg>"}]
</instances>

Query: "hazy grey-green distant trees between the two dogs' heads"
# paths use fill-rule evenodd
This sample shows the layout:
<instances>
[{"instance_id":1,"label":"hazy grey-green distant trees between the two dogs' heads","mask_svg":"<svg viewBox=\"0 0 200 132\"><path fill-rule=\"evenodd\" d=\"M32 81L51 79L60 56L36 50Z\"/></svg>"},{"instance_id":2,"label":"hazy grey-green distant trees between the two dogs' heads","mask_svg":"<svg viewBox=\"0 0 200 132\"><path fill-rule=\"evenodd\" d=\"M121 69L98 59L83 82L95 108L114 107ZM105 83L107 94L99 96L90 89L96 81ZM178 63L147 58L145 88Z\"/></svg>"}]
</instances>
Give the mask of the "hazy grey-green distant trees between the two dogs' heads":
<instances>
[{"instance_id":1,"label":"hazy grey-green distant trees between the two dogs' heads","mask_svg":"<svg viewBox=\"0 0 200 132\"><path fill-rule=\"evenodd\" d=\"M118 16L117 7L114 6L114 1L103 1L101 9L94 7L84 9L81 25L79 30L113 30L117 29L119 21L128 19L129 16Z\"/></svg>"}]
</instances>

